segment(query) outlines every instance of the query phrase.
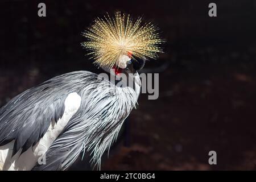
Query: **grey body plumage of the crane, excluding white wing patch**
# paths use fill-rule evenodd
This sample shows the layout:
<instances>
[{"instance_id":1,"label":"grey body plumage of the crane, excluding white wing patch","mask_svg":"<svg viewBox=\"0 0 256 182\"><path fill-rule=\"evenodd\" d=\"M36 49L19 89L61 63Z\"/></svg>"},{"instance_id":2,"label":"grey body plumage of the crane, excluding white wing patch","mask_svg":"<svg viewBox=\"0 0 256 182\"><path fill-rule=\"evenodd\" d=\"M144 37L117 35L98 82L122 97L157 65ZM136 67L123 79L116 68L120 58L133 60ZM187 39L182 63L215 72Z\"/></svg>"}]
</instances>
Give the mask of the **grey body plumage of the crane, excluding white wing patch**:
<instances>
[{"instance_id":1,"label":"grey body plumage of the crane, excluding white wing patch","mask_svg":"<svg viewBox=\"0 0 256 182\"><path fill-rule=\"evenodd\" d=\"M54 77L16 96L0 110L0 146L15 139L13 155L34 146L51 122L64 112L69 93L81 97L81 106L46 152L46 164L33 170L67 169L85 152L100 167L101 156L116 139L125 118L137 103L129 86L117 87L98 75L77 71Z\"/></svg>"}]
</instances>

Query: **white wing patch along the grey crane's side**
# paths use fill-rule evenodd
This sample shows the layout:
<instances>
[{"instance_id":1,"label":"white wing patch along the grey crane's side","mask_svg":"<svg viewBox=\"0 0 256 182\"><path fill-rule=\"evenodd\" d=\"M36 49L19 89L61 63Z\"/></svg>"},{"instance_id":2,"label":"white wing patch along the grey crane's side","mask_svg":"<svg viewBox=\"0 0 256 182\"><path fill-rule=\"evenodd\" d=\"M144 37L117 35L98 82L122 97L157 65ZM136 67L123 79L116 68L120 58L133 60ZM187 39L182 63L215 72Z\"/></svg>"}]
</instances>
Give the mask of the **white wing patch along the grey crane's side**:
<instances>
[{"instance_id":1,"label":"white wing patch along the grey crane's side","mask_svg":"<svg viewBox=\"0 0 256 182\"><path fill-rule=\"evenodd\" d=\"M10 143L7 143L5 146L1 146L0 171L31 170L38 162L38 159L46 153L54 140L59 136L61 131L63 131L64 127L67 125L72 116L77 112L80 105L81 97L79 94L75 92L70 93L65 100L65 111L63 117L57 121L56 125L55 122L52 122L43 138L40 139L40 141L33 148L30 147L22 155L20 155L20 150L13 156L13 158L11 158L14 140Z\"/></svg>"}]
</instances>

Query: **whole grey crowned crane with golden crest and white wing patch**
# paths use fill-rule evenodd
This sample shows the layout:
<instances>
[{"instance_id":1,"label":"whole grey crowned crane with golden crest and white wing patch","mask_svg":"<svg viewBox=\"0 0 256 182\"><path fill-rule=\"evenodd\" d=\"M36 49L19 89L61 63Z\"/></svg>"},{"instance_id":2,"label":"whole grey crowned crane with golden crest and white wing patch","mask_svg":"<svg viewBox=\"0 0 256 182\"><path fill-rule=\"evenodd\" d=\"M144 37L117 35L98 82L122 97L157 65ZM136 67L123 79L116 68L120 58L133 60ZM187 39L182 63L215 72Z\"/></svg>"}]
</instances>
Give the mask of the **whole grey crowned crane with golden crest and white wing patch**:
<instances>
[{"instance_id":1,"label":"whole grey crowned crane with golden crest and white wing patch","mask_svg":"<svg viewBox=\"0 0 256 182\"><path fill-rule=\"evenodd\" d=\"M142 17L108 13L82 32L81 46L105 71L73 71L18 94L0 109L0 170L67 170L80 154L98 169L136 108L138 71L157 59L164 40ZM108 73L108 74L106 74ZM133 86L120 84L131 78Z\"/></svg>"}]
</instances>

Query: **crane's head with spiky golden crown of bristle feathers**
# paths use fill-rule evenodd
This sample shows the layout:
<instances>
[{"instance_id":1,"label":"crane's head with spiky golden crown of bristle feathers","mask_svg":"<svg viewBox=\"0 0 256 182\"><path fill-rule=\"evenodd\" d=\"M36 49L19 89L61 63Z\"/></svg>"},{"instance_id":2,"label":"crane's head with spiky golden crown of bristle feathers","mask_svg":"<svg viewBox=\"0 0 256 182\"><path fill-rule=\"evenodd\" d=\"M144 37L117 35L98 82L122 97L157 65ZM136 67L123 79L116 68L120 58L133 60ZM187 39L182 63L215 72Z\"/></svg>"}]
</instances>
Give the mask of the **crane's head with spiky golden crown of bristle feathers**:
<instances>
[{"instance_id":1,"label":"crane's head with spiky golden crown of bristle feathers","mask_svg":"<svg viewBox=\"0 0 256 182\"><path fill-rule=\"evenodd\" d=\"M115 13L97 18L83 35L87 39L82 46L88 55L105 71L114 69L115 75L122 72L136 73L144 67L146 59L156 59L161 51L158 28L152 23L142 23L142 18Z\"/></svg>"}]
</instances>

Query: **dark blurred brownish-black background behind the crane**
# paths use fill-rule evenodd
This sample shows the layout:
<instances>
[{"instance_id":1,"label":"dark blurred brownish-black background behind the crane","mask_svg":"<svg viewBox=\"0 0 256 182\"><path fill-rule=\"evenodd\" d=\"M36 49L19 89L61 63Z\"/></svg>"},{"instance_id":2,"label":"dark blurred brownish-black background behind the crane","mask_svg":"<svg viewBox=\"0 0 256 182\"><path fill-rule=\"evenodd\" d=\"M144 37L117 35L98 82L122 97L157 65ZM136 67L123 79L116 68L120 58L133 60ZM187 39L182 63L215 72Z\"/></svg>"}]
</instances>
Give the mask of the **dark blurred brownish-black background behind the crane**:
<instances>
[{"instance_id":1,"label":"dark blurred brownish-black background behind the crane","mask_svg":"<svg viewBox=\"0 0 256 182\"><path fill-rule=\"evenodd\" d=\"M38 16L39 2L46 3L45 18ZM217 17L208 16L210 2L217 4ZM167 43L145 67L159 72L158 100L141 94L129 118L128 144L110 152L102 169L255 170L253 0L1 0L0 106L56 75L97 72L80 46L81 32L115 10L143 15ZM211 150L217 165L208 164Z\"/></svg>"}]
</instances>

